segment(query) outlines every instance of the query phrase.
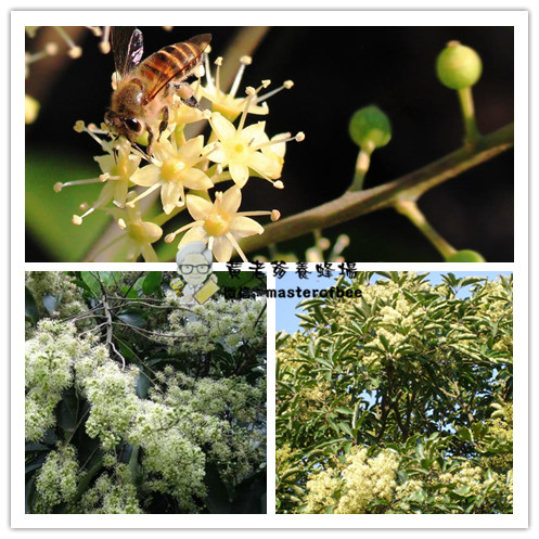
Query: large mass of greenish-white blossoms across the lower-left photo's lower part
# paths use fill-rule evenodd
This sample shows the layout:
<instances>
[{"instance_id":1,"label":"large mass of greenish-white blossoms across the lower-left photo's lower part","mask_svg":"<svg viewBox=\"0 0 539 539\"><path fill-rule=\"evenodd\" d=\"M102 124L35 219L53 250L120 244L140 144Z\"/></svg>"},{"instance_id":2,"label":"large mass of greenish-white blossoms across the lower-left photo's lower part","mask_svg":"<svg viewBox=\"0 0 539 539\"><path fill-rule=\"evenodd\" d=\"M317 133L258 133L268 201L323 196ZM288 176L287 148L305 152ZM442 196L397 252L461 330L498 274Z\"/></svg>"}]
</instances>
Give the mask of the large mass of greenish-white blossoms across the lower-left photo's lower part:
<instances>
[{"instance_id":1,"label":"large mass of greenish-white blossoms across the lower-left photo's lower part","mask_svg":"<svg viewBox=\"0 0 539 539\"><path fill-rule=\"evenodd\" d=\"M139 374L111 360L105 347L78 338L73 324L40 322L26 343L26 439L39 440L54 426L63 390L75 387L89 403L82 428L105 451L103 471L78 501L77 474L87 471L79 471L72 446L51 451L37 473L40 511L70 503L66 511L142 512L129 469L114 453L123 441L141 450L142 490L168 493L185 512L197 511L196 500L204 498L208 462L235 483L265 462L262 386L243 378L195 380L168 365L149 399L140 399Z\"/></svg>"}]
</instances>

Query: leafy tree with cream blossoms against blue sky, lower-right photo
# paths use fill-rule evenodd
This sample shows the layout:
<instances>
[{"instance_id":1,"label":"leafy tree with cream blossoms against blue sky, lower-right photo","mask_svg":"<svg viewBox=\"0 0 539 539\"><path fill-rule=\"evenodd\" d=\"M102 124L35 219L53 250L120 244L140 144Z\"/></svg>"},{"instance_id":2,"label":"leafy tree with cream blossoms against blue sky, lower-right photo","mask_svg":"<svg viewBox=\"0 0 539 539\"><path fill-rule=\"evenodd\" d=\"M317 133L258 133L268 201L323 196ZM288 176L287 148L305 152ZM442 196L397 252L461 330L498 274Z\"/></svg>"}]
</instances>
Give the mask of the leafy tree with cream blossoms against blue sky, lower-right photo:
<instances>
[{"instance_id":1,"label":"leafy tree with cream blossoms against blue sky, lower-right photo","mask_svg":"<svg viewBox=\"0 0 539 539\"><path fill-rule=\"evenodd\" d=\"M512 513L512 278L341 278L278 334L278 512Z\"/></svg>"}]
</instances>

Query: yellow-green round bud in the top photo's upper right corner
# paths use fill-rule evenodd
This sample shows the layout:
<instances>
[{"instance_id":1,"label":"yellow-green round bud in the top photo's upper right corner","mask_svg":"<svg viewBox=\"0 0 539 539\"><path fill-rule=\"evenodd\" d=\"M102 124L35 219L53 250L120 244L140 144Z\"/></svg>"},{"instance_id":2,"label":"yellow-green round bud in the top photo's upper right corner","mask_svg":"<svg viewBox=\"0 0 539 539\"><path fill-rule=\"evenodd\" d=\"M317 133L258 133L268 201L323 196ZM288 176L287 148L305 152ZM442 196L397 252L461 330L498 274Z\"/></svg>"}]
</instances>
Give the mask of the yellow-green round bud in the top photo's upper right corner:
<instances>
[{"instance_id":1,"label":"yellow-green round bud in the top photo's upper right corner","mask_svg":"<svg viewBox=\"0 0 539 539\"><path fill-rule=\"evenodd\" d=\"M474 86L482 75L479 55L459 41L449 41L436 60L436 74L440 82L451 90Z\"/></svg>"}]
</instances>

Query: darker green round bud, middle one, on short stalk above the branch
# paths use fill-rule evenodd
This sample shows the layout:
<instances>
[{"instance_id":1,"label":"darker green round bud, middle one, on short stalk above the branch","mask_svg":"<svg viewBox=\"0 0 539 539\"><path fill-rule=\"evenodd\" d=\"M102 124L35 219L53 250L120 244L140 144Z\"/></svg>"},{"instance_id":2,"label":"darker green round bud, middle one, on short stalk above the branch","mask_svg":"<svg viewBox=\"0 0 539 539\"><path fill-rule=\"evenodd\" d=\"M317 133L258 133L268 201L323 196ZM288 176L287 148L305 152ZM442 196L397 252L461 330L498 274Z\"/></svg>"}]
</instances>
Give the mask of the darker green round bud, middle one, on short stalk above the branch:
<instances>
[{"instance_id":1,"label":"darker green round bud, middle one, on short stalk above the branch","mask_svg":"<svg viewBox=\"0 0 539 539\"><path fill-rule=\"evenodd\" d=\"M351 140L367 151L385 146L392 140L389 118L375 105L356 111L348 129Z\"/></svg>"}]
</instances>

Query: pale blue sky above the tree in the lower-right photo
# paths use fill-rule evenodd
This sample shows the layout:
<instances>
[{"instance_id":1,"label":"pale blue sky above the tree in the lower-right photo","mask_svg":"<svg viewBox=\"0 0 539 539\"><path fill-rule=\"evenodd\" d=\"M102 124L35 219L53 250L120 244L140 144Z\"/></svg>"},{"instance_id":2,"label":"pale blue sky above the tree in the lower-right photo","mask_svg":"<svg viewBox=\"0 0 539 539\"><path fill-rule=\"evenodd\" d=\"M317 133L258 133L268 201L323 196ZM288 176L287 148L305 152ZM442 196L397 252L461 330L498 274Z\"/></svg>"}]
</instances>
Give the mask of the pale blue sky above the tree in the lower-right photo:
<instances>
[{"instance_id":1,"label":"pale blue sky above the tree in the lower-right photo","mask_svg":"<svg viewBox=\"0 0 539 539\"><path fill-rule=\"evenodd\" d=\"M300 288L328 288L335 283L336 277L339 272L334 272L335 277L321 278L316 271L310 272L307 277L308 279L299 279L298 275L293 271L287 271L282 279L275 280L277 290L288 290L299 286ZM449 273L449 271L431 271L428 280L433 284L439 284L441 282L441 275ZM510 275L510 271L451 271L457 278L463 278L467 275L474 277L486 277L489 281L496 281L496 278L500 274ZM380 275L374 275L374 279L381 279ZM460 295L463 296L466 291L461 291ZM294 333L299 330L299 319L296 317L296 306L301 301L301 299L294 298L278 298L275 305L275 330L285 331L287 333ZM300 311L298 311L300 312Z\"/></svg>"}]
</instances>

